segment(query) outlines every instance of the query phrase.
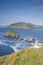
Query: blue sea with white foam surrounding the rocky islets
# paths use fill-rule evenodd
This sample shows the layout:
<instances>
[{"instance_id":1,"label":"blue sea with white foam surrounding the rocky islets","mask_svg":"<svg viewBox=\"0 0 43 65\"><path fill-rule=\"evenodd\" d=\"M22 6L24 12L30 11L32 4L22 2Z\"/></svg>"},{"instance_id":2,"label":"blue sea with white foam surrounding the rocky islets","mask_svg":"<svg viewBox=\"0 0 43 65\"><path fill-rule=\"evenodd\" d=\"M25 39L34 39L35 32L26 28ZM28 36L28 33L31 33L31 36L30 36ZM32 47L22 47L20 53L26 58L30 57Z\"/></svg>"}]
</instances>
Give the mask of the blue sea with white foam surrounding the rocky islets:
<instances>
[{"instance_id":1,"label":"blue sea with white foam surrounding the rocky islets","mask_svg":"<svg viewBox=\"0 0 43 65\"><path fill-rule=\"evenodd\" d=\"M34 38L38 43L43 44L43 29L16 29L16 28L0 28L0 55L7 55L23 48L31 47L33 44L24 40L8 39L3 35L8 31L13 30L20 35L21 38ZM38 44L37 43L37 44Z\"/></svg>"}]
</instances>

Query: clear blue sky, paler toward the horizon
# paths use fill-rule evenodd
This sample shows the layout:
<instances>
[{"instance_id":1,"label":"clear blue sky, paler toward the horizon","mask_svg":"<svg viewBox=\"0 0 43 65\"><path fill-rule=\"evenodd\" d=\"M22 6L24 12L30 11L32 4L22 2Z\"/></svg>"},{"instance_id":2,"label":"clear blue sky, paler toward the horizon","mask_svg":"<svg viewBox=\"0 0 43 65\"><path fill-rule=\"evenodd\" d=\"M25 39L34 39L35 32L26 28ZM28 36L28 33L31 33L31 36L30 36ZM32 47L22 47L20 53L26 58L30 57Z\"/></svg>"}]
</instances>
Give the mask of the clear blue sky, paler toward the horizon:
<instances>
[{"instance_id":1,"label":"clear blue sky, paler toward the horizon","mask_svg":"<svg viewBox=\"0 0 43 65\"><path fill-rule=\"evenodd\" d=\"M43 25L43 0L0 0L0 26L17 22Z\"/></svg>"}]
</instances>

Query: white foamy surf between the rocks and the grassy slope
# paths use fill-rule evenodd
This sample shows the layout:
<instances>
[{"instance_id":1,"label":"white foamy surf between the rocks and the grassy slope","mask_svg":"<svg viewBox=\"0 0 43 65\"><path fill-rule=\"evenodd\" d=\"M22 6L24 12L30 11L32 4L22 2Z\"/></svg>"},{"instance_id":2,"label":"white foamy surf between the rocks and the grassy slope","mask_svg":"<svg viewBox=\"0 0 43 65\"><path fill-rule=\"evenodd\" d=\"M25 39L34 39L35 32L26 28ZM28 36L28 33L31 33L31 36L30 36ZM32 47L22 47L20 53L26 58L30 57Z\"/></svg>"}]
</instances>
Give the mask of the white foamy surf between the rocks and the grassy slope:
<instances>
[{"instance_id":1,"label":"white foamy surf between the rocks and the grassy slope","mask_svg":"<svg viewBox=\"0 0 43 65\"><path fill-rule=\"evenodd\" d=\"M27 39L27 38L24 38L24 39ZM18 52L21 49L26 48L26 47L29 47L29 48L31 48L31 47L32 48L39 48L39 46L41 45L41 43L39 43L38 40L36 40L35 43L17 42L15 45L13 45L13 44L9 45L5 41L6 40L0 40L0 44L10 46L14 50L14 52ZM10 42L13 42L13 41L10 41Z\"/></svg>"}]
</instances>

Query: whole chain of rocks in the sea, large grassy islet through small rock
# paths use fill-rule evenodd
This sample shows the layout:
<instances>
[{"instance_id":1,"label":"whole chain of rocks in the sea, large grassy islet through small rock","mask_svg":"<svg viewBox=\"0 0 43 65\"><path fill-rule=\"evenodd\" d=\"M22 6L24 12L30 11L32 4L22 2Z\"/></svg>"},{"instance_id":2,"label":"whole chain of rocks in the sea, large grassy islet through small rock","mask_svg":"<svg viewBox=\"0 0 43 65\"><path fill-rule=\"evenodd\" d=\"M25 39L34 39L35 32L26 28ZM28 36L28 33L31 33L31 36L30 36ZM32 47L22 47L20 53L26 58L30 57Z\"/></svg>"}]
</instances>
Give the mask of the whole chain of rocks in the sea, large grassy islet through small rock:
<instances>
[{"instance_id":1,"label":"whole chain of rocks in the sea, large grassy islet through small rock","mask_svg":"<svg viewBox=\"0 0 43 65\"><path fill-rule=\"evenodd\" d=\"M4 34L5 38L12 38L12 39L20 39L21 41L24 40L24 38L20 37L19 34L17 34L16 32L9 30ZM28 42L28 43L35 43L35 39L34 38L28 38L25 39L24 41Z\"/></svg>"}]
</instances>

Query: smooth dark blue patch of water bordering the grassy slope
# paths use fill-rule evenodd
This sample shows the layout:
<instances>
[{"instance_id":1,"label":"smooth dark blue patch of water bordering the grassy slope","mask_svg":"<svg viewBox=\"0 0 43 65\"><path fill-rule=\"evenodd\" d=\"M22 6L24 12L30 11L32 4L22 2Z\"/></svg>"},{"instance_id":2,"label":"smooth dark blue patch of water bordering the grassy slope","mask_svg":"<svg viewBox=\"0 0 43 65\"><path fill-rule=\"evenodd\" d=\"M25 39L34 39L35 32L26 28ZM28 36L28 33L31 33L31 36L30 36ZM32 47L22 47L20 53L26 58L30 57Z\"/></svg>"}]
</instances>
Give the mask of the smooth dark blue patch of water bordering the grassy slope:
<instances>
[{"instance_id":1,"label":"smooth dark blue patch of water bordering the grassy slope","mask_svg":"<svg viewBox=\"0 0 43 65\"><path fill-rule=\"evenodd\" d=\"M8 55L14 53L14 50L7 45L0 45L0 56Z\"/></svg>"}]
</instances>

